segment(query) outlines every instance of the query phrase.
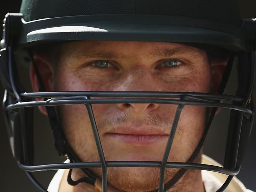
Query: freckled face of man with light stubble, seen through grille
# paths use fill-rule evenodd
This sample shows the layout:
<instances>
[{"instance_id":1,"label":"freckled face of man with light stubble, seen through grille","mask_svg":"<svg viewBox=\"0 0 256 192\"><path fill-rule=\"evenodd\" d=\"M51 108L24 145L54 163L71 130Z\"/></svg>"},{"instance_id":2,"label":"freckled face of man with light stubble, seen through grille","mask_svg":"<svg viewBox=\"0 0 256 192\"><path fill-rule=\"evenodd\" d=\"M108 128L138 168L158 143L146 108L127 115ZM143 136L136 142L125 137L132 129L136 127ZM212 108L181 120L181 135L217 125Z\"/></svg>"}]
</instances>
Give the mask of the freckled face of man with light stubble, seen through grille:
<instances>
[{"instance_id":1,"label":"freckled face of man with light stubble, seen through grille","mask_svg":"<svg viewBox=\"0 0 256 192\"><path fill-rule=\"evenodd\" d=\"M55 73L56 91L209 92L211 86L206 52L169 42L63 44ZM177 105L92 106L106 161L161 161ZM58 111L65 137L78 157L99 161L85 105L62 106ZM184 107L168 161L189 159L205 119L205 107ZM100 177L101 169L92 171ZM176 172L167 169L166 182ZM122 190L152 190L158 188L158 181L158 168L108 168L108 183Z\"/></svg>"}]
</instances>

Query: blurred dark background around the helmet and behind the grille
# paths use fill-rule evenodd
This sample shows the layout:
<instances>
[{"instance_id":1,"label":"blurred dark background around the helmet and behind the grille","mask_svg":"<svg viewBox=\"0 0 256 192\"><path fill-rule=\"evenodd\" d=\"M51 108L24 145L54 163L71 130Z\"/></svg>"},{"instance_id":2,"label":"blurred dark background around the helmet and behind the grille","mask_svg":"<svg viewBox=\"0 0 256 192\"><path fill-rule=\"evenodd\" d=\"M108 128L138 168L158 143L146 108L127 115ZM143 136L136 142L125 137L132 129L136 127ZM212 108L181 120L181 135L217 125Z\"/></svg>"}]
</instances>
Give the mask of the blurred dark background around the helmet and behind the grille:
<instances>
[{"instance_id":1,"label":"blurred dark background around the helmet and behind the grille","mask_svg":"<svg viewBox=\"0 0 256 192\"><path fill-rule=\"evenodd\" d=\"M0 18L4 18L7 12L18 13L21 0L1 0L0 5ZM256 1L255 0L241 0L241 9L243 13L243 18L255 18L256 17ZM0 37L2 37L2 29L0 32ZM27 91L31 91L28 68L21 68L21 81L26 85ZM233 77L228 83L227 94L234 94L236 82L236 71L232 71ZM4 94L4 89L0 83L0 100L2 101L2 96ZM254 96L255 96L254 91ZM254 101L255 101L254 97ZM204 153L216 159L220 163L223 161L224 145L223 142L226 137L226 127L228 125L228 110L222 110L218 114L213 122L210 129L210 133L204 145ZM249 147L246 151L246 156L241 168L241 172L237 177L245 184L245 186L251 190L256 191L256 124L253 127L252 135L249 142ZM26 174L20 170L13 159L11 150L9 147L9 141L7 137L7 131L5 127L5 122L0 111L0 191L1 192L15 192L15 191L26 191L26 192L37 192L37 188L33 186ZM54 142L52 140L52 133L48 124L48 119L39 113L35 109L35 162L37 164L45 163L56 163L63 162L55 149ZM35 176L41 181L43 186L47 187L48 183L54 175L54 171L51 172L39 172L35 173Z\"/></svg>"}]
</instances>

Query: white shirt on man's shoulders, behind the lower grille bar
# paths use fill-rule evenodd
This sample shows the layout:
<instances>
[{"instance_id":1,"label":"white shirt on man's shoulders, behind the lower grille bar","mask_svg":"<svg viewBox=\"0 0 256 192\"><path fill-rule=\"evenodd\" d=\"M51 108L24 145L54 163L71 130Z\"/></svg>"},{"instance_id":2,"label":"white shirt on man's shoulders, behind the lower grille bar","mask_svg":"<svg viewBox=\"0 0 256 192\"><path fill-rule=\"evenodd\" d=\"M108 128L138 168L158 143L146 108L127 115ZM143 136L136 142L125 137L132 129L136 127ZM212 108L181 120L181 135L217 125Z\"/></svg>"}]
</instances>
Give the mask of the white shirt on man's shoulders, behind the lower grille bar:
<instances>
[{"instance_id":1,"label":"white shirt on man's shoulders, behind the lower grille bar","mask_svg":"<svg viewBox=\"0 0 256 192\"><path fill-rule=\"evenodd\" d=\"M65 161L69 162L69 160ZM211 164L215 166L221 166L218 162L211 159L210 157L206 155L202 155L202 164ZM64 169L58 170L54 177L52 178L52 181L50 182L50 185L48 186L48 192L59 192L59 184L61 182L61 179L64 174ZM206 192L216 192L222 184L226 181L227 175L220 174L217 172L210 172L202 170L202 181L204 182L204 188ZM237 179L237 177L233 177L230 184L224 190L224 192L252 192L249 189L246 189L243 183Z\"/></svg>"}]
</instances>

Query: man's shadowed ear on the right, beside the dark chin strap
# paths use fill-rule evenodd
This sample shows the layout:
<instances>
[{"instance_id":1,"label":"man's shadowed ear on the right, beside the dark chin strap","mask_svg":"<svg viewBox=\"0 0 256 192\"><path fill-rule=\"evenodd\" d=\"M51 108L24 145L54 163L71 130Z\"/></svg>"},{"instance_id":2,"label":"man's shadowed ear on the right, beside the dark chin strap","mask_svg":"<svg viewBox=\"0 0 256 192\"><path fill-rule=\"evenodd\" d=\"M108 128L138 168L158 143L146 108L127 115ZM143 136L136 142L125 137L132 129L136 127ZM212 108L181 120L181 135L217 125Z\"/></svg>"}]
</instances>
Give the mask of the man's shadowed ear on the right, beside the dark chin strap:
<instances>
[{"instance_id":1,"label":"man's shadowed ear on the right, beside the dark chin strap","mask_svg":"<svg viewBox=\"0 0 256 192\"><path fill-rule=\"evenodd\" d=\"M228 63L228 57L225 58L210 58L211 63L211 92L217 93L219 86L221 85L221 80L223 78L224 70ZM218 108L216 114L221 111L221 108Z\"/></svg>"}]
</instances>

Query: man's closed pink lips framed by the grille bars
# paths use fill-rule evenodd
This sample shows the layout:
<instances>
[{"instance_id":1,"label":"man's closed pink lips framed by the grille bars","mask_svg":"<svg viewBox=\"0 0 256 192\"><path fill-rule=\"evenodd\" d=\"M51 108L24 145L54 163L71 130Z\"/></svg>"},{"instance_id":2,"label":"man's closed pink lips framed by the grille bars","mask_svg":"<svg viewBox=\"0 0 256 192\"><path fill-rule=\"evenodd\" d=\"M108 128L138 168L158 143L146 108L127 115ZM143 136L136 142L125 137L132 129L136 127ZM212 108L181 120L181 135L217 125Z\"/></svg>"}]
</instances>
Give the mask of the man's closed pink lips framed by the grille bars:
<instances>
[{"instance_id":1,"label":"man's closed pink lips framed by the grille bars","mask_svg":"<svg viewBox=\"0 0 256 192\"><path fill-rule=\"evenodd\" d=\"M128 144L148 145L156 142L167 141L169 137L169 130L152 127L147 125L141 126L122 126L115 127L108 133L105 133L107 137L111 137L119 142L125 142Z\"/></svg>"}]
</instances>

